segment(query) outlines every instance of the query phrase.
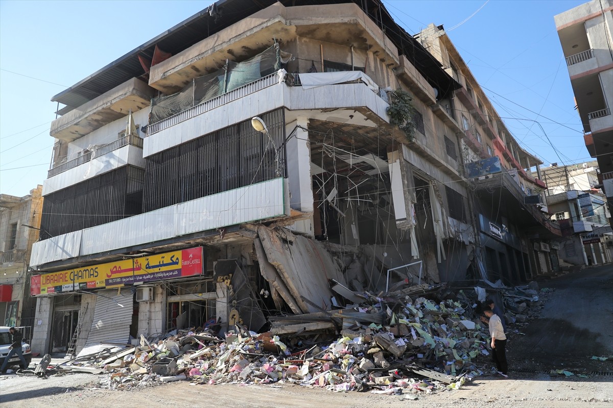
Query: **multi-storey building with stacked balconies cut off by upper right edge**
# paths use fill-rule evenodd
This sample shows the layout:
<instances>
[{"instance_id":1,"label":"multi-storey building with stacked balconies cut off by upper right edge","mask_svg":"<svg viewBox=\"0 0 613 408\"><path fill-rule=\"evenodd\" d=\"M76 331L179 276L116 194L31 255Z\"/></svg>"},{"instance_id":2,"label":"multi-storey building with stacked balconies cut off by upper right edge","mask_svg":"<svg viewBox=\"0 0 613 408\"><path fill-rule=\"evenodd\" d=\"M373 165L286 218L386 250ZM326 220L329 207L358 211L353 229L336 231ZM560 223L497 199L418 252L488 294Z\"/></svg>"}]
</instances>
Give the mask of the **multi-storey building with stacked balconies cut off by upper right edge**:
<instances>
[{"instance_id":1,"label":"multi-storey building with stacked balconies cut off by upper right edge","mask_svg":"<svg viewBox=\"0 0 613 408\"><path fill-rule=\"evenodd\" d=\"M593 0L554 17L568 65L585 147L596 158L613 210L613 0ZM609 219L609 224L611 220Z\"/></svg>"}]
</instances>

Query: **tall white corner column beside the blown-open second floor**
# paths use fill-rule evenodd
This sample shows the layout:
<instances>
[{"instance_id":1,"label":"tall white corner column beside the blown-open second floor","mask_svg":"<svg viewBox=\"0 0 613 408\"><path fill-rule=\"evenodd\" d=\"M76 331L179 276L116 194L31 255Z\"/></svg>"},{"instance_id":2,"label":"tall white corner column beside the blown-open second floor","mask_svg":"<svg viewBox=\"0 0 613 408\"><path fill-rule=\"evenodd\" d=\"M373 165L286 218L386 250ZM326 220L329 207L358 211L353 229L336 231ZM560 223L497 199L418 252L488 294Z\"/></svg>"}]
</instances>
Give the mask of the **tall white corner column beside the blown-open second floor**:
<instances>
[{"instance_id":1,"label":"tall white corner column beside the blown-open second floor","mask_svg":"<svg viewBox=\"0 0 613 408\"><path fill-rule=\"evenodd\" d=\"M297 126L299 126L297 128ZM311 147L308 141L308 121L299 117L286 125L287 178L289 179L290 207L300 212L313 213L313 180L311 180ZM295 129L295 130L294 130ZM313 217L295 223L291 229L313 236Z\"/></svg>"}]
</instances>

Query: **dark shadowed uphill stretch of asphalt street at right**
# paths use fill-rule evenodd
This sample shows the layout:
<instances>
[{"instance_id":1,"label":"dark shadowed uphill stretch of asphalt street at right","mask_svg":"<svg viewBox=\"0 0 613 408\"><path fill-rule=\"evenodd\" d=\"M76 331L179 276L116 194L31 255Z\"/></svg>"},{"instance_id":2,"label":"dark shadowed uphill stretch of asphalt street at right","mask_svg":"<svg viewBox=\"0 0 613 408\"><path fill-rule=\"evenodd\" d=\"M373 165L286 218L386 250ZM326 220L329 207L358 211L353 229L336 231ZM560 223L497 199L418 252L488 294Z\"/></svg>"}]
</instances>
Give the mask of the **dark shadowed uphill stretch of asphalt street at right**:
<instances>
[{"instance_id":1,"label":"dark shadowed uphill stretch of asphalt street at right","mask_svg":"<svg viewBox=\"0 0 613 408\"><path fill-rule=\"evenodd\" d=\"M525 336L509 344L511 360L542 371L613 371L613 362L591 360L613 355L613 266L584 269L544 286L555 292L541 317L522 329Z\"/></svg>"}]
</instances>

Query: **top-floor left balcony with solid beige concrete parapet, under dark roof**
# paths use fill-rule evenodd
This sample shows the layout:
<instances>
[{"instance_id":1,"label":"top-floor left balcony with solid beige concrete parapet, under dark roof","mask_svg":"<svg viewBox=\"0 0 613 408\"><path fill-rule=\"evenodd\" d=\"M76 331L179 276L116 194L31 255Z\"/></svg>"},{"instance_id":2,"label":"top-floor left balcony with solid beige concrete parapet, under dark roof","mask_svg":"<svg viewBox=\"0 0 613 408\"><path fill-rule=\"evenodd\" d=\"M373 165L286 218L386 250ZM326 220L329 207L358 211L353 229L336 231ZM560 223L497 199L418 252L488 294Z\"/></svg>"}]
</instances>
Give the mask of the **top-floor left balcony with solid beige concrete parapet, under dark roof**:
<instances>
[{"instance_id":1,"label":"top-floor left balcony with solid beige concrete parapet, under dark roof","mask_svg":"<svg viewBox=\"0 0 613 408\"><path fill-rule=\"evenodd\" d=\"M156 91L137 78L114 87L99 97L73 109L51 122L50 135L63 141L74 141L129 112L149 106Z\"/></svg>"}]
</instances>

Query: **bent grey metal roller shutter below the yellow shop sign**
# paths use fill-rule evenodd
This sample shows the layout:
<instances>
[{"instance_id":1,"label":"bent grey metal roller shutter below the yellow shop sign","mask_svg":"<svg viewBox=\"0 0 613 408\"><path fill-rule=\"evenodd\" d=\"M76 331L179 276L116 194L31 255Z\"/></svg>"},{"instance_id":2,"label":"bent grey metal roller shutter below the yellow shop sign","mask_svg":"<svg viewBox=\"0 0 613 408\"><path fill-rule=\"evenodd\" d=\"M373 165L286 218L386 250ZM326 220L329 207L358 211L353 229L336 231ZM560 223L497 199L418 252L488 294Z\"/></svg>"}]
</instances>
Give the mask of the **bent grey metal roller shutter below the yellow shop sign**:
<instances>
[{"instance_id":1,"label":"bent grey metal roller shutter below the yellow shop sign","mask_svg":"<svg viewBox=\"0 0 613 408\"><path fill-rule=\"evenodd\" d=\"M117 294L116 289L110 289L98 291L96 295L94 320L86 344L128 344L132 324L132 292L124 289Z\"/></svg>"}]
</instances>

